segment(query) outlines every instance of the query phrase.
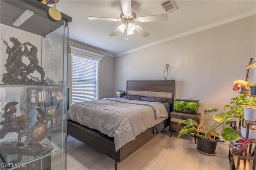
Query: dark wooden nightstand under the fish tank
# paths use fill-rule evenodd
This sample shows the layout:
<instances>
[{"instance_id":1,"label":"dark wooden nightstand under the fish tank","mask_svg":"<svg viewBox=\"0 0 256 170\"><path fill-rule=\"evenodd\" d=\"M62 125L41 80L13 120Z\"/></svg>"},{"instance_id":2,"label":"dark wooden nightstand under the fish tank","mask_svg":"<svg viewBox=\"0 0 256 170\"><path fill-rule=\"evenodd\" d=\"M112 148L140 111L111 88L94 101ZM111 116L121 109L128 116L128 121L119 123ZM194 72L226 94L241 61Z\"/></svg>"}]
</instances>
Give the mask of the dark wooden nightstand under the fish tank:
<instances>
[{"instance_id":1,"label":"dark wooden nightstand under the fish tank","mask_svg":"<svg viewBox=\"0 0 256 170\"><path fill-rule=\"evenodd\" d=\"M185 121L187 119L193 119L196 123L200 123L201 113L198 115L188 114L188 113L180 113L172 111L170 113L170 128L172 129L170 137L172 137L173 130L181 130L184 126L186 126ZM179 121L182 121L180 126L178 125ZM194 135L195 143L196 143L196 136Z\"/></svg>"}]
</instances>

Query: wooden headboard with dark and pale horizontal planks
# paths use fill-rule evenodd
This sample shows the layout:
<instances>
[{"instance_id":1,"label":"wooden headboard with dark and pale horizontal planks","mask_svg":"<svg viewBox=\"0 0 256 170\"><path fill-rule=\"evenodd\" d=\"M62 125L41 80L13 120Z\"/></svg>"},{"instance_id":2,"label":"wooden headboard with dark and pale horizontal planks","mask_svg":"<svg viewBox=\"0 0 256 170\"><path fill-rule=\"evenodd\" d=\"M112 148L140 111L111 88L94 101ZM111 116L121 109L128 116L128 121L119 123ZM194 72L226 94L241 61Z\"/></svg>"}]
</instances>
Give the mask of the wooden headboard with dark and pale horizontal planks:
<instances>
[{"instance_id":1,"label":"wooden headboard with dark and pale horizontal planks","mask_svg":"<svg viewBox=\"0 0 256 170\"><path fill-rule=\"evenodd\" d=\"M174 80L128 80L126 84L127 95L164 97L170 103L171 111L174 105Z\"/></svg>"}]
</instances>

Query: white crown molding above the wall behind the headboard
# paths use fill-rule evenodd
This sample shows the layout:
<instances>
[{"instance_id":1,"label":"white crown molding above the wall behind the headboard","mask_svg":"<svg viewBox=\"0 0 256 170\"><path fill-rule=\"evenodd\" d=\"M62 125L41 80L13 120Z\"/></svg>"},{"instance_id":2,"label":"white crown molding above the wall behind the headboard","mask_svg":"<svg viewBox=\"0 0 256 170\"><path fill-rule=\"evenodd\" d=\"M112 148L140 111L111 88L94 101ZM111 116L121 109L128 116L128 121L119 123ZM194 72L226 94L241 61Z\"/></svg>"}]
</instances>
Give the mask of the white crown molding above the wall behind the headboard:
<instances>
[{"instance_id":1,"label":"white crown molding above the wall behind the headboard","mask_svg":"<svg viewBox=\"0 0 256 170\"><path fill-rule=\"evenodd\" d=\"M202 27L196 28L194 30L183 32L183 33L177 34L175 36L164 38L164 39L156 41L156 42L148 43L146 45L142 45L140 47L137 47L137 48L134 48L134 49L131 49L131 50L128 50L128 51L124 51L122 53L118 53L114 57L119 57L119 56L122 56L122 55L125 55L125 54L128 54L128 53L132 53L132 52L135 52L135 51L147 48L147 47L151 47L153 45L157 45L157 44L160 44L160 43L168 42L168 41L174 40L176 38L188 36L188 35L194 34L196 32L207 30L207 29L210 29L210 28L213 28L213 27L216 27L216 26L220 26L222 24L226 24L226 23L233 22L233 21L236 21L236 20L239 20L239 19L242 19L242 18L246 18L248 16L252 16L252 15L255 15L255 14L256 14L256 10L252 10L252 11L246 12L244 14L240 14L240 15L237 15L237 16L234 16L234 17L230 17L230 18L227 18L225 20L220 20L218 22L215 22L215 23L212 23L212 24L208 24L206 26L202 26Z\"/></svg>"}]
</instances>

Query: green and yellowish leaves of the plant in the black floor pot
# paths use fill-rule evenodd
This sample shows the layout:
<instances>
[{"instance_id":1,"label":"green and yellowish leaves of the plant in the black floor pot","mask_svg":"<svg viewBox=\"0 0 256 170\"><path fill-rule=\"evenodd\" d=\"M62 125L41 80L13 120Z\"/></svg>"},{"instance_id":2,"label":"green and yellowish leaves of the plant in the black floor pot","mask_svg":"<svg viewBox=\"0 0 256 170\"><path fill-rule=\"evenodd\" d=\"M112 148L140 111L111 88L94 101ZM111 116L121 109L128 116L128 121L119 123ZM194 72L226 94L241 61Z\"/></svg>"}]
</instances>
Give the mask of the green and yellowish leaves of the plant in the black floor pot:
<instances>
[{"instance_id":1,"label":"green and yellowish leaves of the plant in the black floor pot","mask_svg":"<svg viewBox=\"0 0 256 170\"><path fill-rule=\"evenodd\" d=\"M209 114L213 112L218 111L218 109L211 109L204 111L204 114ZM219 134L221 133L222 138L225 141L233 141L236 138L239 138L239 134L231 127L226 127L226 125L230 125L230 122L232 119L236 118L236 113L232 111L228 111L225 113L218 113L214 115L214 124L209 126L208 128L204 127L204 121L202 121L200 124L196 123L196 121L192 119L187 119L185 123L187 124L184 126L182 130L180 130L178 134L178 138L180 138L182 135L186 133L194 134L198 137L214 140L216 139ZM179 125L182 122L179 122ZM223 126L222 132L216 132L216 128Z\"/></svg>"}]
</instances>

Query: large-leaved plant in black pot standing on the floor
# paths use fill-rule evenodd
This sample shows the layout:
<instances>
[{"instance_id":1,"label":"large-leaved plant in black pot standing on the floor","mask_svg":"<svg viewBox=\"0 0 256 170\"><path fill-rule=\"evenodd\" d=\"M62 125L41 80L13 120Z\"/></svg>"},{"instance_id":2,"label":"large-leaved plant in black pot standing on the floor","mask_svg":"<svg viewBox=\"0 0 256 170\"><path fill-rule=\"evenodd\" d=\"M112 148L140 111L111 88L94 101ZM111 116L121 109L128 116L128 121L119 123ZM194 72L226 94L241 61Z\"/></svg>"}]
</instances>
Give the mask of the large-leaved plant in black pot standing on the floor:
<instances>
[{"instance_id":1,"label":"large-leaved plant in black pot standing on the floor","mask_svg":"<svg viewBox=\"0 0 256 170\"><path fill-rule=\"evenodd\" d=\"M218 111L218 109L211 109L204 111L204 114L209 114ZM216 154L216 146L218 141L220 140L219 134L221 134L222 138L225 141L233 141L239 138L238 132L231 127L226 127L231 123L231 120L236 118L236 113L233 111L228 111L225 113L218 113L214 115L214 123L208 128L204 127L204 121L200 124L196 123L196 121L192 119L187 119L182 130L180 130L178 134L178 138L182 135L189 133L196 136L196 144L197 150L203 154L214 155ZM179 125L181 121L179 122ZM220 126L223 126L222 132L216 132L216 129Z\"/></svg>"}]
</instances>

